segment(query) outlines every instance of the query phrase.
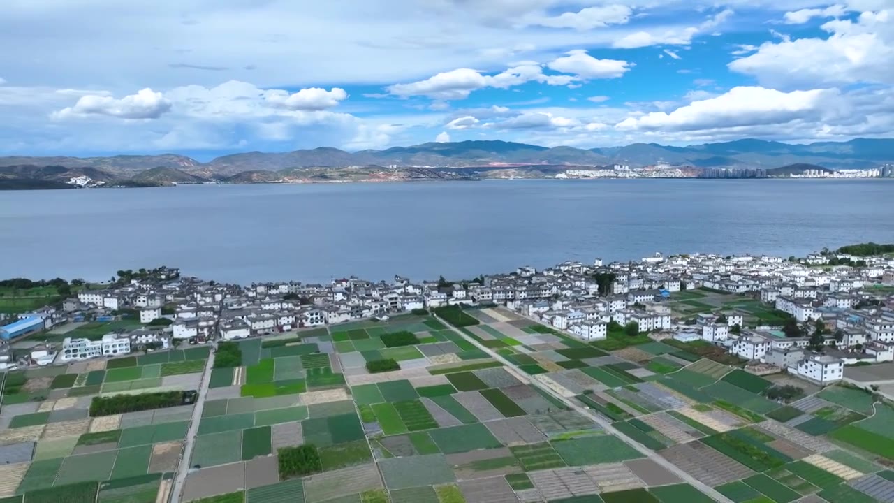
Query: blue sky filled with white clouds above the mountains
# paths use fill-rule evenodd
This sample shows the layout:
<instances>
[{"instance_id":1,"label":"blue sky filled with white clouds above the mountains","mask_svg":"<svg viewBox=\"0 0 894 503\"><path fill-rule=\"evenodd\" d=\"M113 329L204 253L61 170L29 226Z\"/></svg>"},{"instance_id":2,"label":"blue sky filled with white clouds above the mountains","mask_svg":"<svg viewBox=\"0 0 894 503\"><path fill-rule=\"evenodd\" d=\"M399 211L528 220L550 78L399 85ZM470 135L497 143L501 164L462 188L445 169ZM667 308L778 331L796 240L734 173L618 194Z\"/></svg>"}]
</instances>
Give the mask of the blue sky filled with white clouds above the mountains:
<instances>
[{"instance_id":1,"label":"blue sky filled with white clouds above the mountains","mask_svg":"<svg viewBox=\"0 0 894 503\"><path fill-rule=\"evenodd\" d=\"M894 130L894 0L4 0L0 47L0 156Z\"/></svg>"}]
</instances>

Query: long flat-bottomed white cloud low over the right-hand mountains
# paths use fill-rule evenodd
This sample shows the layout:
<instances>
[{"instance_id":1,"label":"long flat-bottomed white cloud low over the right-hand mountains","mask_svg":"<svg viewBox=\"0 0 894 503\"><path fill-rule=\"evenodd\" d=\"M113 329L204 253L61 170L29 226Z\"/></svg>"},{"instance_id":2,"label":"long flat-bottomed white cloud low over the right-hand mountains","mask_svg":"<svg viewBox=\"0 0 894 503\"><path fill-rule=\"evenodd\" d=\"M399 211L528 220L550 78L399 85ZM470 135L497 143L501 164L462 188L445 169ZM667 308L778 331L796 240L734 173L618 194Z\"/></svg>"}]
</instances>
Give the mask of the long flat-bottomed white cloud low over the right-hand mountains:
<instances>
[{"instance_id":1,"label":"long flat-bottomed white cloud low over the right-hand mountains","mask_svg":"<svg viewBox=\"0 0 894 503\"><path fill-rule=\"evenodd\" d=\"M653 112L628 117L615 127L620 130L693 131L786 124L796 119L819 117L823 102L838 94L838 90L782 92L761 87L737 87L716 98L693 101L670 114Z\"/></svg>"}]
</instances>

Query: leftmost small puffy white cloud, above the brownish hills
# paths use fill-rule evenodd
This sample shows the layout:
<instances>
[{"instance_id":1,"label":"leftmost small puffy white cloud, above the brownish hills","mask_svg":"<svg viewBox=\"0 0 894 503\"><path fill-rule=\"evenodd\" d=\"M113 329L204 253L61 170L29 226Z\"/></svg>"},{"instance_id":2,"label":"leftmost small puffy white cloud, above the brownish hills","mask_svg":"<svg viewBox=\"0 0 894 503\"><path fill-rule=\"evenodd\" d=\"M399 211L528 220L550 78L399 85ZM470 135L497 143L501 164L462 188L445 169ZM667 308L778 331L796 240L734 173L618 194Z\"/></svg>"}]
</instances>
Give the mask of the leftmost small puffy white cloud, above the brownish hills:
<instances>
[{"instance_id":1,"label":"leftmost small puffy white cloud, above the brownish hills","mask_svg":"<svg viewBox=\"0 0 894 503\"><path fill-rule=\"evenodd\" d=\"M151 89L139 90L121 99L108 96L87 95L78 99L74 107L65 107L55 114L56 118L107 115L119 119L157 119L171 110L171 101L162 93Z\"/></svg>"}]
</instances>

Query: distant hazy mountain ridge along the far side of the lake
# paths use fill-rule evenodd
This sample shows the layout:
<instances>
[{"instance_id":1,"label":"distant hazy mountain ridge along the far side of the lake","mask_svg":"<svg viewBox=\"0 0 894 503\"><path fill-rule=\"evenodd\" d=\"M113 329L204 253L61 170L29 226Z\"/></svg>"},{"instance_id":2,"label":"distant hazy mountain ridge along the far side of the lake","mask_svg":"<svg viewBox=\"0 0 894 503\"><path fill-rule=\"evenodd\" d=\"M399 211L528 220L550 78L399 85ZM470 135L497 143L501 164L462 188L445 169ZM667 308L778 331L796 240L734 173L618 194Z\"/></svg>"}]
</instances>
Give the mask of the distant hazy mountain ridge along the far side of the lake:
<instances>
[{"instance_id":1,"label":"distant hazy mountain ridge along the far side of the lake","mask_svg":"<svg viewBox=\"0 0 894 503\"><path fill-rule=\"evenodd\" d=\"M547 148L512 141L457 141L423 143L384 150L347 152L330 147L291 152L243 152L207 163L176 154L114 156L108 158L0 158L0 166L93 167L120 178L130 178L152 168L164 167L204 179L221 179L246 171L281 171L301 167L434 166L470 167L507 165L650 166L659 162L694 167L754 167L773 169L793 164L833 169L876 167L894 162L894 139L821 141L794 145L780 141L745 139L671 147L658 143L633 143L620 147L578 149ZM169 173L168 175L175 175ZM179 176L179 175L177 175Z\"/></svg>"}]
</instances>

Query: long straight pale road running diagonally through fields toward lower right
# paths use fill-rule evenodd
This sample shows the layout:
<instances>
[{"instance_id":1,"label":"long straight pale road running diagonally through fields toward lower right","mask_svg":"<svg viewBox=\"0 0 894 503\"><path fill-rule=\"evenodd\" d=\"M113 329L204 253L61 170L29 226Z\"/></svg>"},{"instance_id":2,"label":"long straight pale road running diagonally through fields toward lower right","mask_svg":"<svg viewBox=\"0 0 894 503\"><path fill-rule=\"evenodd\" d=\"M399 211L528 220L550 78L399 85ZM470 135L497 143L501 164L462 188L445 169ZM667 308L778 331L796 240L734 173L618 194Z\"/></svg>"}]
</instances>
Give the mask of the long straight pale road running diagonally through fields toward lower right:
<instances>
[{"instance_id":1,"label":"long straight pale road running diagonally through fields toward lower right","mask_svg":"<svg viewBox=\"0 0 894 503\"><path fill-rule=\"evenodd\" d=\"M437 317L437 315L435 315L435 317ZM671 473L676 474L684 482L688 482L696 489L701 490L702 492L704 492L704 494L710 496L714 501L721 501L722 503L732 503L732 500L723 496L721 493L717 492L716 490L713 490L713 488L709 487L707 484L704 484L703 482L699 482L698 480L696 480L695 477L693 477L689 473L684 472L683 470L679 469L679 467L677 467L676 465L673 465L667 459L664 459L662 456L659 456L654 450L645 447L643 444L640 444L636 440L630 439L628 436L624 435L620 431L615 430L615 428L613 426L611 426L611 422L605 420L603 418L603 416L601 416L597 413L594 413L593 411L591 411L590 409L587 409L586 407L584 407L582 405L578 405L576 402L570 400L569 398L567 398L565 396L561 396L559 393L555 392L552 388L549 388L548 386L544 386L543 384L541 384L540 381L538 381L536 379L530 379L524 371L520 371L518 369L518 367L515 366L514 363L510 362L509 360L506 360L500 354L497 354L495 351L493 351L493 349L491 349L489 347L485 347L485 345L481 345L480 343L478 343L477 340L475 340L471 337L468 337L466 334L462 333L462 331L459 328L453 327L449 322L444 321L444 324L447 325L448 327L450 327L451 330L453 330L457 334L460 334L460 336L464 337L466 340L468 340L468 342L472 343L473 345L476 345L478 349L484 351L487 354L490 354L494 360L496 360L498 362L502 362L502 364L507 367L507 369L510 371L510 373L514 374L515 377L517 379L519 379L521 382L529 383L532 386L536 386L537 388L542 389L546 393L549 393L551 396L554 396L557 399L561 400L561 402L565 405L568 405L569 408L573 409L574 411L576 411L578 413L583 414L587 418L591 419L593 422L596 422L603 428L604 431L611 433L612 435L623 440L631 448L637 449L637 451L639 451L640 453L642 453L649 459L653 460L658 465L662 465L664 468L667 468L668 470L671 471Z\"/></svg>"}]
</instances>

